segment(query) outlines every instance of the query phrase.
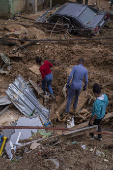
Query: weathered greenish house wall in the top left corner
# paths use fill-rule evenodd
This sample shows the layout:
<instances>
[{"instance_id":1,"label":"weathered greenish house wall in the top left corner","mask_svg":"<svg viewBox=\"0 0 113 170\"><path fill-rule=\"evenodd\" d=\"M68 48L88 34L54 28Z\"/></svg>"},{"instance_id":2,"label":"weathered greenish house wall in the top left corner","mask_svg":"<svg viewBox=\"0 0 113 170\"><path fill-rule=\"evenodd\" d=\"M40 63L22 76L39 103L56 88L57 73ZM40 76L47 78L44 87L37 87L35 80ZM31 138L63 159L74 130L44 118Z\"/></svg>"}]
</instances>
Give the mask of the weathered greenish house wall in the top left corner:
<instances>
[{"instance_id":1,"label":"weathered greenish house wall in the top left corner","mask_svg":"<svg viewBox=\"0 0 113 170\"><path fill-rule=\"evenodd\" d=\"M18 12L25 11L26 0L0 0L0 18L12 18Z\"/></svg>"}]
</instances>

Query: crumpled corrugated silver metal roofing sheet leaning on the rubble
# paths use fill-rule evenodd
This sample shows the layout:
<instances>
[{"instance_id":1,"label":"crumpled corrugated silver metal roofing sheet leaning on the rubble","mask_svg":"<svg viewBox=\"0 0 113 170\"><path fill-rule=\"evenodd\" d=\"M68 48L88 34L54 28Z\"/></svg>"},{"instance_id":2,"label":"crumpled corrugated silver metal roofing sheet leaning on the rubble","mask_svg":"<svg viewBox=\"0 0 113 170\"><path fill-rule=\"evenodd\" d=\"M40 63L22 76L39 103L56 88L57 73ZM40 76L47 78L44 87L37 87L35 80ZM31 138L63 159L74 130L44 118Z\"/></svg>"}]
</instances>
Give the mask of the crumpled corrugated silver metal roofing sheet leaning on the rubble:
<instances>
[{"instance_id":1,"label":"crumpled corrugated silver metal roofing sheet leaning on the rubble","mask_svg":"<svg viewBox=\"0 0 113 170\"><path fill-rule=\"evenodd\" d=\"M35 113L39 115L43 123L49 120L49 110L41 105L28 87L24 79L19 75L15 81L9 85L6 94L11 102L22 112L25 116Z\"/></svg>"}]
</instances>

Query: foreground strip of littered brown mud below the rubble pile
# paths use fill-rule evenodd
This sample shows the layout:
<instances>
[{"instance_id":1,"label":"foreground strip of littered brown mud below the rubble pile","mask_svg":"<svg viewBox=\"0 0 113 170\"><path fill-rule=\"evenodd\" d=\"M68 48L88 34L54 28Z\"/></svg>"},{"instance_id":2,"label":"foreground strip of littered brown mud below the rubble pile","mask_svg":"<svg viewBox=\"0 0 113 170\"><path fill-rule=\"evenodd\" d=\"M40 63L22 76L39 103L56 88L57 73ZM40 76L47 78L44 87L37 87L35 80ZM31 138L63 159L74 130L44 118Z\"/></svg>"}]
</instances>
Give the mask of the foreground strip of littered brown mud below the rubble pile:
<instances>
[{"instance_id":1,"label":"foreground strip of littered brown mud below the rubble pile","mask_svg":"<svg viewBox=\"0 0 113 170\"><path fill-rule=\"evenodd\" d=\"M74 141L74 139L73 139ZM57 146L44 145L26 153L22 159L0 159L0 169L9 170L112 170L113 169L113 138L103 137L103 141L90 141L85 137L76 139L77 143L64 142ZM85 145L85 149L81 146ZM99 151L101 154L98 154ZM57 163L54 164L51 160Z\"/></svg>"}]
</instances>

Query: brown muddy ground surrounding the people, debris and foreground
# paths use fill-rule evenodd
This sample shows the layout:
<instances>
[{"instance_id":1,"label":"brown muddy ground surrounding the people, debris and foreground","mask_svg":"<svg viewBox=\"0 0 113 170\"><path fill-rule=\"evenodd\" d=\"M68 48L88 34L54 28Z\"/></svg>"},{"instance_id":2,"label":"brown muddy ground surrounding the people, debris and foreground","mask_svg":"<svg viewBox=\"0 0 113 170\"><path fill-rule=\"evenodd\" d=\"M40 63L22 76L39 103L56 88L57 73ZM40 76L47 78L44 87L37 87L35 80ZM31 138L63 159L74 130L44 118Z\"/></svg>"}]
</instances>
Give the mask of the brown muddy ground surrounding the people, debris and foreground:
<instances>
[{"instance_id":1,"label":"brown muddy ground surrounding the people, debris and foreground","mask_svg":"<svg viewBox=\"0 0 113 170\"><path fill-rule=\"evenodd\" d=\"M18 25L23 25L24 29L28 27L34 27L32 21L27 19L18 18L14 20L0 20L0 36L3 37L9 32L6 29L7 26L11 26L11 29L18 31ZM38 27L40 29L40 27ZM22 29L23 30L23 29ZM45 29L41 29L44 31ZM39 33L39 32L38 32ZM38 34L37 33L37 34ZM20 36L20 35L19 35ZM21 37L25 38L26 34L23 31ZM34 32L30 31L27 34L27 38L34 39ZM34 38L33 38L34 37ZM9 37L15 38L15 37ZM67 42L38 42L35 45L28 46L23 50L19 50L22 58L12 58L11 52L16 50L16 46L0 45L0 53L4 53L7 57L11 58L11 72L8 75L0 74L0 95L5 94L5 90L8 85L14 81L14 79L21 74L23 78L28 81L29 79L35 82L41 81L41 76L37 76L29 70L35 63L35 57L41 56L43 61L47 59L53 64L53 82L52 88L55 96L59 96L57 107L59 107L64 101L62 89L67 81L69 72L68 68L74 66L79 58L85 60L85 67L88 69L89 83L87 92L92 94L92 85L99 83L102 87L102 92L106 93L109 98L109 106L107 112L113 112L113 21L111 20L106 27L96 37L92 38L105 38L101 40L86 40L86 37L79 35L67 35L48 33L47 31L42 34L41 38L53 38L53 39L65 39L74 38L76 41ZM84 40L85 39L85 40ZM16 41L19 45L20 42ZM22 44L22 43L21 43ZM24 45L24 43L22 44ZM92 94L93 95L93 94ZM85 106L86 107L86 106ZM90 105L87 107L91 107ZM18 113L17 110L15 112ZM108 128L111 127L111 123L107 124ZM104 128L104 127L103 127ZM77 144L72 144L74 140L78 141ZM103 135L103 141L97 140L90 141L89 137L81 137L79 139L73 139L73 141L64 142L59 146L44 145L41 150L36 149L30 153L26 153L24 157L17 161L11 161L6 158L0 159L1 170L52 170L57 169L55 164L49 159L57 159L59 162L59 169L61 170L112 170L113 169L113 136ZM86 149L81 148L81 145L86 145ZM93 151L90 149L93 148ZM96 154L96 150L103 152L104 154L99 156Z\"/></svg>"}]
</instances>

